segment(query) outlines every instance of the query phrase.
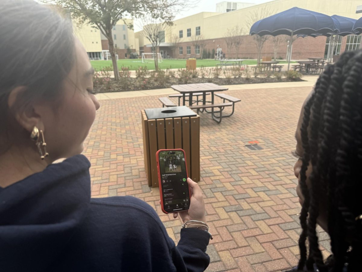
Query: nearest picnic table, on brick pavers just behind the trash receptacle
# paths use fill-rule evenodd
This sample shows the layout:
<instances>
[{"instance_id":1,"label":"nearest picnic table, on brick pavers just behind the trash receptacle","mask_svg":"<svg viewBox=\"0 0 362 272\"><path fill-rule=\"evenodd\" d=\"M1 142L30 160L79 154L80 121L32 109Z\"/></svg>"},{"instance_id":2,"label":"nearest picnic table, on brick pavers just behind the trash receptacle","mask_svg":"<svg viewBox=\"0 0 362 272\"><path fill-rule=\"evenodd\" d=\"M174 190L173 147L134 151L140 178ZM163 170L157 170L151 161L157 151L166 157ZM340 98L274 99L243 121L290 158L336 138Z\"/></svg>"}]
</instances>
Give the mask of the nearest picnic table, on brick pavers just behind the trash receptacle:
<instances>
[{"instance_id":1,"label":"nearest picnic table, on brick pavers just behind the trash receptacle","mask_svg":"<svg viewBox=\"0 0 362 272\"><path fill-rule=\"evenodd\" d=\"M214 83L197 83L197 84L183 84L183 85L172 85L171 88L173 90L180 92L182 94L182 104L185 106L185 98L186 95L189 96L189 107L191 109L197 110L199 112L200 110L205 110L207 113L210 113L212 116L212 119L216 121L217 123L221 122L222 119L222 111L225 107L233 106L234 109L234 103L235 102L228 102L228 103L219 103L214 104L214 92L221 92L226 91L228 88L225 88L223 86L216 85ZM193 105L193 99L192 96L195 93L202 93L202 105ZM206 94L210 92L211 93L211 104L206 104ZM227 99L228 100L228 99ZM240 100L239 100L240 101ZM211 111L207 111L207 108L211 108ZM214 111L214 108L219 108L218 111ZM232 112L233 113L233 112ZM232 115L232 114L231 114ZM229 117L224 116L224 117Z\"/></svg>"}]
</instances>

